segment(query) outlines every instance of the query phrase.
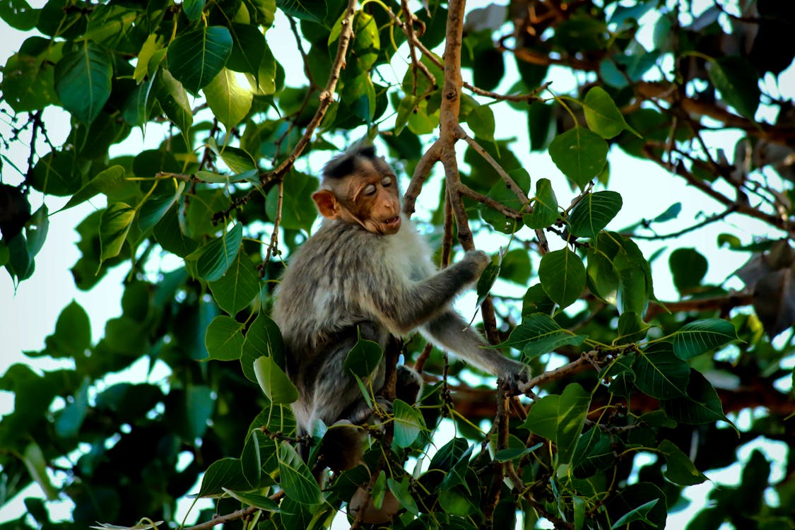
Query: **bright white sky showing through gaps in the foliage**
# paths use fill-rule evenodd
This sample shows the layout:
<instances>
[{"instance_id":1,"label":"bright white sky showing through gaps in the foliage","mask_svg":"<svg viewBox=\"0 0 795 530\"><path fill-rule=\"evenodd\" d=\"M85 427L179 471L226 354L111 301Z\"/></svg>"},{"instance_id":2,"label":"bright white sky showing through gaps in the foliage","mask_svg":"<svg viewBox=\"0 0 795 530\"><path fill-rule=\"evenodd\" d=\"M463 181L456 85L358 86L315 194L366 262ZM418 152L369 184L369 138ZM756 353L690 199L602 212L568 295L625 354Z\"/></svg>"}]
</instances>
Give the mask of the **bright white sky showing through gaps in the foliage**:
<instances>
[{"instance_id":1,"label":"bright white sky showing through gaps in the foliage","mask_svg":"<svg viewBox=\"0 0 795 530\"><path fill-rule=\"evenodd\" d=\"M37 3L41 4L42 2L30 3L35 6ZM487 5L488 3L490 2L468 2L468 5L478 6ZM267 34L271 43L280 43L280 54L285 49L285 45L281 43L294 43L292 36L289 34L285 35L285 32L289 32L289 25L280 16L277 18L276 25ZM0 21L0 35L3 36L2 40L0 40L0 63L5 64L7 57L18 47L20 33ZM292 50L292 53L293 60L296 63L301 60L295 50ZM292 62L292 60L290 63L284 62L282 57L279 55L278 58L283 61L283 64ZM510 69L514 68L513 61L506 61L506 65ZM297 68L287 68L287 73L288 76L300 76L301 74L300 69ZM567 91L574 81L564 69L558 69L558 72L552 75L554 78L553 87L558 93ZM792 97L795 94L795 69L789 68L789 72L784 77L787 80L782 86L787 87L787 90L790 91L789 95L785 94L784 96ZM288 77L288 83L293 84L293 86L299 84L298 81L290 83L290 77ZM503 83L503 86L498 87L497 91L507 91L512 83ZM517 123L517 119L520 123L525 123L525 118L517 117L512 114L513 112L513 110L506 109L497 113L495 118L498 121L498 131L512 130L512 127L515 126L514 124ZM48 133L51 135L53 143L60 145L68 134L68 114L50 107L45 114L45 119L48 123ZM0 134L7 137L7 130L7 123L0 123ZM514 153L529 153L529 146L526 145L526 141L522 140L522 137L525 136L524 125L522 125L522 130L517 133L519 139L513 147ZM149 134L143 139L140 131L136 131L130 135L130 139L123 145L114 149L117 150L117 154L138 152L142 149L154 147L159 139L157 134ZM735 139L736 135L730 133L712 138L710 145L723 147L731 156ZM460 149L460 153L463 154L463 149ZM18 167L25 168L28 153L24 149L19 149L19 146L17 146L6 154L15 161ZM610 189L621 192L625 205L617 218L611 223L610 227L613 229L628 226L641 217L653 218L655 215L665 211L670 204L681 200L682 197L687 197L688 201L690 201L694 196L697 196L695 191L688 189L684 185L683 180L667 176L665 172L653 167L652 164L640 163L617 149L611 152L610 160ZM560 203L568 204L567 201L574 194L569 191L564 176L560 174L548 156L528 155L526 163L533 181L539 178L549 178L553 181L553 188ZM11 173L12 171L13 169L6 164L3 174L4 182L16 184L20 180L17 175ZM426 191L426 193L429 196L435 195L430 191ZM47 205L49 211L56 211L65 201L66 199L48 197ZM33 210L40 205L41 195L33 193ZM33 277L21 282L16 288L8 274L0 270L0 338L2 338L0 340L0 348L2 348L0 349L0 373L5 373L8 366L14 362L25 362L38 369L52 369L56 366L52 361L26 358L21 352L41 350L44 347L45 336L52 333L57 316L71 300L76 300L90 315L94 342L102 336L104 323L107 319L118 316L121 313L121 283L126 274L126 269L119 267L111 269L110 273L97 287L89 292L82 292L76 289L72 275L69 272L69 268L80 257L75 246L77 234L74 231L74 226L95 208L104 206L103 199L98 197L79 207L52 215L47 241L36 258L36 272L33 273ZM717 203L704 195L699 200L696 200L695 203L688 202L683 204L683 206L684 210L680 218L661 225L659 227L661 232L673 232L691 225L693 219L696 218L700 211L707 215L715 211L721 211ZM710 266L707 277L708 282L719 283L723 281L733 270L747 260L747 255L733 253L728 250L719 250L715 244L717 234L723 231L731 232L733 228L736 228L738 232L756 234L766 230L766 226L760 222L733 216L726 223L715 223L704 230L688 234L688 236L677 240L677 246L693 246L707 255ZM646 242L638 242L638 244L647 257L653 248L657 248L657 246ZM485 250L488 252L495 252L498 250L499 244L484 241L483 246L486 247ZM677 293L671 285L667 257L665 255L653 263L653 277L656 294L661 300L677 299ZM739 288L741 284L739 280L734 279L727 286ZM466 303L466 300L464 300L464 303ZM161 373L156 372L151 377L157 380L157 377L161 376ZM130 377L129 373L118 374L115 377L111 377L111 381L108 384L112 384L114 382L112 381L113 379L124 379L126 377ZM13 410L13 397L9 393L0 392L0 415L6 414L11 410ZM445 435L449 435L449 433L442 434L442 436ZM768 458L774 458L781 462L785 456L785 447L780 447L776 444L766 444L763 447ZM750 451L750 446L743 449L743 452L746 453L745 456L750 454ZM738 469L735 468L721 474L708 475L719 482L734 483L738 476ZM712 489L712 486L709 482L704 485L693 486L688 489L688 495L698 499L698 502L703 502L704 494L709 489ZM32 486L26 493L36 494L36 488L37 486ZM16 517L24 511L21 500L25 496L27 495L17 496L13 502L0 507L0 522ZM62 505L64 516L68 516L69 504L62 503ZM684 528L684 521L689 520L690 516L692 516L692 513L669 516L669 528ZM677 517L679 518L677 519Z\"/></svg>"}]
</instances>

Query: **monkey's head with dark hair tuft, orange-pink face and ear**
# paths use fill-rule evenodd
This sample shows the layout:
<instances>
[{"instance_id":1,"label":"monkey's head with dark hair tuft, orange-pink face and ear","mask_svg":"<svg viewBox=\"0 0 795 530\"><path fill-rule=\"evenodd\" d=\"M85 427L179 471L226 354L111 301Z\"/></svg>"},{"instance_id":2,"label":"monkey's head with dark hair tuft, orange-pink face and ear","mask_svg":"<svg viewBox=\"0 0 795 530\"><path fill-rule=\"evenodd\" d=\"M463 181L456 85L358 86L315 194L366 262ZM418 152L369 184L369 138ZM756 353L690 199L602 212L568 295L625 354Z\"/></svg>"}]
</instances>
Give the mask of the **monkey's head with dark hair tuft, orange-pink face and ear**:
<instances>
[{"instance_id":1,"label":"monkey's head with dark hair tuft, orange-pink face and ear","mask_svg":"<svg viewBox=\"0 0 795 530\"><path fill-rule=\"evenodd\" d=\"M359 224L373 234L397 234L400 230L397 179L389 164L375 156L371 145L329 161L320 190L312 199L326 219Z\"/></svg>"}]
</instances>

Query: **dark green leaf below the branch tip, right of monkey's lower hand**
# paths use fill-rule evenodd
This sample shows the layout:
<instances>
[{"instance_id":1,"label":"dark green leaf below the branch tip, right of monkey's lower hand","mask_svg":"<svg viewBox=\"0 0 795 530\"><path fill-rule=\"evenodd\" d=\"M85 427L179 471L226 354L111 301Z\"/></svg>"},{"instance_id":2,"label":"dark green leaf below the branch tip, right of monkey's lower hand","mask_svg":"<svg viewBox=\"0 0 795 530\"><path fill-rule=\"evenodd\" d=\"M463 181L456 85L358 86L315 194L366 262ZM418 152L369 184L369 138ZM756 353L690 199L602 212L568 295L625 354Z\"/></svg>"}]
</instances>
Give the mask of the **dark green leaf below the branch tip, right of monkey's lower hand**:
<instances>
[{"instance_id":1,"label":"dark green leaf below the branch tip, right of monkey's lower hand","mask_svg":"<svg viewBox=\"0 0 795 530\"><path fill-rule=\"evenodd\" d=\"M688 363L673 354L669 342L657 342L638 354L632 371L635 386L657 399L682 396L690 380Z\"/></svg>"}]
</instances>

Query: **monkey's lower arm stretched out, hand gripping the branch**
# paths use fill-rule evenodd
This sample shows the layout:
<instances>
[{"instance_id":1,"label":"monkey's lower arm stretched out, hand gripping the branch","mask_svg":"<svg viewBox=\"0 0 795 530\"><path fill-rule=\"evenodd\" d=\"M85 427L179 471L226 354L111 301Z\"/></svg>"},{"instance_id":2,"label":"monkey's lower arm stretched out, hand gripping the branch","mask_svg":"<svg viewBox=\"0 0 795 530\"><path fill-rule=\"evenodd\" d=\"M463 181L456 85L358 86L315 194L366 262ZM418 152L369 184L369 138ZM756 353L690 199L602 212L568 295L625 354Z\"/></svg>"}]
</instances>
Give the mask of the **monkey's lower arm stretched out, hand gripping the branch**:
<instances>
[{"instance_id":1,"label":"monkey's lower arm stretched out, hand gripping the branch","mask_svg":"<svg viewBox=\"0 0 795 530\"><path fill-rule=\"evenodd\" d=\"M436 346L510 383L524 382L529 378L528 366L506 358L498 350L489 347L452 309L432 319L421 330Z\"/></svg>"}]
</instances>

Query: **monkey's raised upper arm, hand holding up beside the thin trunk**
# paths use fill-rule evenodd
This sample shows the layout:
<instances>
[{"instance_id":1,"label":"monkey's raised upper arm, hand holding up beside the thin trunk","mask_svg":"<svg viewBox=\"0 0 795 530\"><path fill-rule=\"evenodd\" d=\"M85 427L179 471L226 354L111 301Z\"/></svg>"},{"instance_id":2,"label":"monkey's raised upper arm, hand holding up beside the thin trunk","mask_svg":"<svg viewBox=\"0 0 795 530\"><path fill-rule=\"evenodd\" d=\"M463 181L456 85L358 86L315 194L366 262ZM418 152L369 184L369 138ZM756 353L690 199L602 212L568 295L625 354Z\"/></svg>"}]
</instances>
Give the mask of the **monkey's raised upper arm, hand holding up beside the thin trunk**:
<instances>
[{"instance_id":1,"label":"monkey's raised upper arm, hand holding up beside the thin trunk","mask_svg":"<svg viewBox=\"0 0 795 530\"><path fill-rule=\"evenodd\" d=\"M488 263L486 253L469 251L455 265L418 282L403 280L385 268L370 279L372 284L359 284L359 303L377 315L394 335L405 335L445 311Z\"/></svg>"}]
</instances>

